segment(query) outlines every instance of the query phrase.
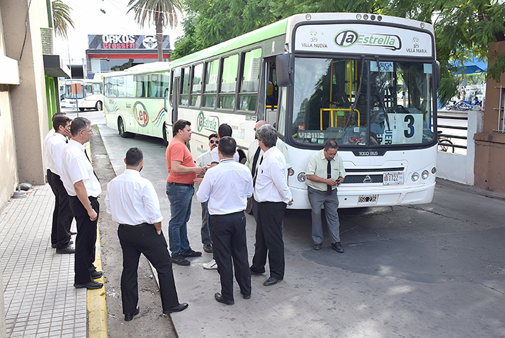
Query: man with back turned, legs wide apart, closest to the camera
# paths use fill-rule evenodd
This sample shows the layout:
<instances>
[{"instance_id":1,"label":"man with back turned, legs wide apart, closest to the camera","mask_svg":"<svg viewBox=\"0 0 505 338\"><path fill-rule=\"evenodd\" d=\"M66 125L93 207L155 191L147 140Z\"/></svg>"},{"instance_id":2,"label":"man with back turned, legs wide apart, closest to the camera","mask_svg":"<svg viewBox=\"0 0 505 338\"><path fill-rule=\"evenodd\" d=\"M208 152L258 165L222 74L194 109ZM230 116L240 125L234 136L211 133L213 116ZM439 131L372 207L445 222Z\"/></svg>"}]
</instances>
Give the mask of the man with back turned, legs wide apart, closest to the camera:
<instances>
[{"instance_id":1,"label":"man with back turned, legs wide apart, closest to the camera","mask_svg":"<svg viewBox=\"0 0 505 338\"><path fill-rule=\"evenodd\" d=\"M142 150L130 148L125 164L125 173L107 185L105 205L113 221L119 223L118 237L123 249L121 296L125 321L129 322L140 311L137 306L137 269L141 253L157 271L163 313L180 312L188 305L179 304L175 290L172 258L161 230L160 201L152 183L140 176L144 165Z\"/></svg>"}]
</instances>

